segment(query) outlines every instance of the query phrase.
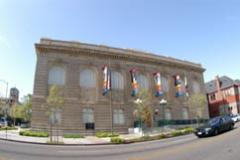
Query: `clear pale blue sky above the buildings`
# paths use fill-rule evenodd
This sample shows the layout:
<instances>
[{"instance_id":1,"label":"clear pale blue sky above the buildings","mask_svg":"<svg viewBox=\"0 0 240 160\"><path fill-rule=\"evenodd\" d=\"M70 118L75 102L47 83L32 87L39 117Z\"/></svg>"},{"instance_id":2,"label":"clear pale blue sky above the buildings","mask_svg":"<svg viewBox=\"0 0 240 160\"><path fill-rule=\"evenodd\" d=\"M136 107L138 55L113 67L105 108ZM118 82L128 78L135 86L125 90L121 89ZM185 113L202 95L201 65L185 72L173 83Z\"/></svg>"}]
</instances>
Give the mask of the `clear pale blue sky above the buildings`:
<instances>
[{"instance_id":1,"label":"clear pale blue sky above the buildings","mask_svg":"<svg viewBox=\"0 0 240 160\"><path fill-rule=\"evenodd\" d=\"M0 79L32 93L41 37L145 50L201 63L205 81L237 79L239 8L238 0L0 0Z\"/></svg>"}]
</instances>

